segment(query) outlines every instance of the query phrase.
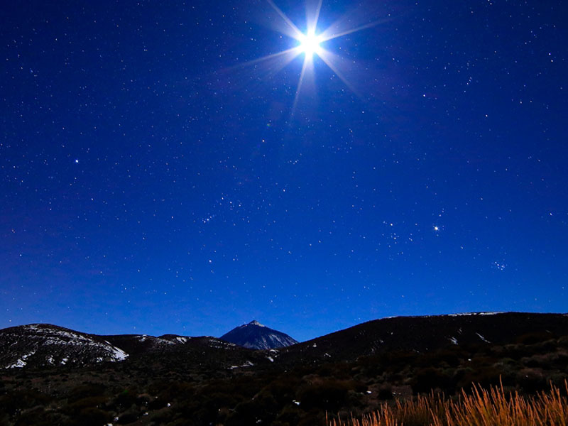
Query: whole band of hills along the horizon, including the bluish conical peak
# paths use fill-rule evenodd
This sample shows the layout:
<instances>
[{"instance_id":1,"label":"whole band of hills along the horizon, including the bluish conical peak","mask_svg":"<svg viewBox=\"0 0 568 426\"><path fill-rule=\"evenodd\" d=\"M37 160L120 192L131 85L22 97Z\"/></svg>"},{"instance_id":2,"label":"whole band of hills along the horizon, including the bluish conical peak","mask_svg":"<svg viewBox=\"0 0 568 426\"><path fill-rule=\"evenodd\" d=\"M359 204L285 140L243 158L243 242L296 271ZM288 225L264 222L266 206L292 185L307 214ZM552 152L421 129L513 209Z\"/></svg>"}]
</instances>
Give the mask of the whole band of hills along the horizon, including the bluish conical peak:
<instances>
[{"instance_id":1,"label":"whole band of hills along the horizon, including the bluish conical peak","mask_svg":"<svg viewBox=\"0 0 568 426\"><path fill-rule=\"evenodd\" d=\"M116 361L147 364L152 368L200 366L203 371L253 366L279 368L320 361L355 361L361 356L397 351L415 354L444 348L476 351L528 344L531 339L557 339L567 334L567 314L521 312L384 318L303 343L256 321L236 327L221 339L173 334L99 336L50 324L28 324L0 329L0 371Z\"/></svg>"}]
</instances>

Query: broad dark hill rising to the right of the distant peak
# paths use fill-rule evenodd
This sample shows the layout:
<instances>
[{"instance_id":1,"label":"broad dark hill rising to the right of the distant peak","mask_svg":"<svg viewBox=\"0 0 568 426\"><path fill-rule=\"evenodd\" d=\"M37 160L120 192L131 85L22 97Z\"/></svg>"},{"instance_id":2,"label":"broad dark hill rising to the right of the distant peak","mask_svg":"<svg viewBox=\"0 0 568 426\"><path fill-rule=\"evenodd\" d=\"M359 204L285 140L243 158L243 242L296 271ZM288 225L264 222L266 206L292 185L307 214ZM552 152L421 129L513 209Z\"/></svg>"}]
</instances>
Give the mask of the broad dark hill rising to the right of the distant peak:
<instances>
[{"instance_id":1,"label":"broad dark hill rising to the right of the distant peak","mask_svg":"<svg viewBox=\"0 0 568 426\"><path fill-rule=\"evenodd\" d=\"M547 334L550 339L568 334L568 314L473 312L383 318L280 349L279 360L352 361L387 351L423 353L444 346L515 344L531 334Z\"/></svg>"}]
</instances>

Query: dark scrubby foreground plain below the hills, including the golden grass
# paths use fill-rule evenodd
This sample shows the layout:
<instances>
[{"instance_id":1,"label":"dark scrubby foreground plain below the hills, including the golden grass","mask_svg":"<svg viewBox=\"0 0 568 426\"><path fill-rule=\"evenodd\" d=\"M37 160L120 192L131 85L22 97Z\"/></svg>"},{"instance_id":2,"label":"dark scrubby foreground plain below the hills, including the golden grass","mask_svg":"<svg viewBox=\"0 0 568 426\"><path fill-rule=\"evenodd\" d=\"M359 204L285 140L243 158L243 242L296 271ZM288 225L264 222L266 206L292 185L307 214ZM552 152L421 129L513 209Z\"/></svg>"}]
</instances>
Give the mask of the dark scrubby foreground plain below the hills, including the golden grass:
<instances>
[{"instance_id":1,"label":"dark scrubby foreground plain below the hills, including the golden grass","mask_svg":"<svg viewBox=\"0 0 568 426\"><path fill-rule=\"evenodd\" d=\"M512 340L351 359L307 359L306 352L270 362L247 351L255 366L242 368L180 352L84 368L6 369L0 425L568 425L568 336ZM351 415L357 420L346 422Z\"/></svg>"}]
</instances>

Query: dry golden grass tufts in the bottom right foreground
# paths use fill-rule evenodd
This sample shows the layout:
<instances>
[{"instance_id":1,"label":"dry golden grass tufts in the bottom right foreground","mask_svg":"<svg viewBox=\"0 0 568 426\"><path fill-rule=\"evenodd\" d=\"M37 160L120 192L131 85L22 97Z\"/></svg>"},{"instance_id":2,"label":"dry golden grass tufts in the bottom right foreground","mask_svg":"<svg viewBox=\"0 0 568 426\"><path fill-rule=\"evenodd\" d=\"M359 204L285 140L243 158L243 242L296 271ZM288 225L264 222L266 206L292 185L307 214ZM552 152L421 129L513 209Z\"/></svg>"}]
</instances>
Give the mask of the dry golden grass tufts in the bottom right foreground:
<instances>
[{"instance_id":1,"label":"dry golden grass tufts in the bottom right foreground","mask_svg":"<svg viewBox=\"0 0 568 426\"><path fill-rule=\"evenodd\" d=\"M564 382L568 393L568 383ZM532 397L506 393L503 385L488 390L474 386L458 400L419 396L416 400L384 403L361 419L332 420L329 426L564 426L568 425L568 400L559 388Z\"/></svg>"}]
</instances>

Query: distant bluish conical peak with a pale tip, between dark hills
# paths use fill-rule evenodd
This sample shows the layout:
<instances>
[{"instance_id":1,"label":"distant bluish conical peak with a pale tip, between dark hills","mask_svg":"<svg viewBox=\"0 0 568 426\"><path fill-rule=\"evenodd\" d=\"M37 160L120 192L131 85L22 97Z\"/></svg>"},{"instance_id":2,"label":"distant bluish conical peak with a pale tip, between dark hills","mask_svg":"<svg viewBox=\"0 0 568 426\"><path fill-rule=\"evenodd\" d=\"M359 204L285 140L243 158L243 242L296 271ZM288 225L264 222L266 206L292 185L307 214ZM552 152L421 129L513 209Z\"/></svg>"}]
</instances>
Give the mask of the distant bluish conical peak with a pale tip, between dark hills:
<instances>
[{"instance_id":1,"label":"distant bluish conical peak with a pale tip, between dark hills","mask_svg":"<svg viewBox=\"0 0 568 426\"><path fill-rule=\"evenodd\" d=\"M268 328L258 321L236 327L220 339L250 349L278 349L297 344L288 334Z\"/></svg>"}]
</instances>

